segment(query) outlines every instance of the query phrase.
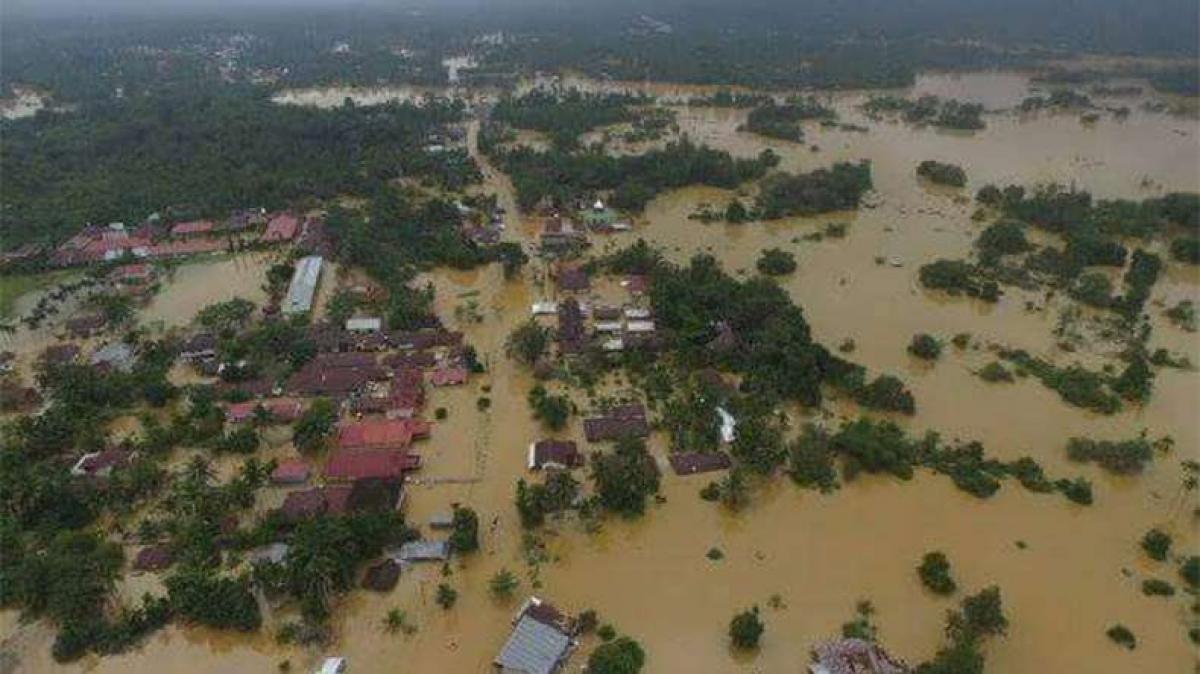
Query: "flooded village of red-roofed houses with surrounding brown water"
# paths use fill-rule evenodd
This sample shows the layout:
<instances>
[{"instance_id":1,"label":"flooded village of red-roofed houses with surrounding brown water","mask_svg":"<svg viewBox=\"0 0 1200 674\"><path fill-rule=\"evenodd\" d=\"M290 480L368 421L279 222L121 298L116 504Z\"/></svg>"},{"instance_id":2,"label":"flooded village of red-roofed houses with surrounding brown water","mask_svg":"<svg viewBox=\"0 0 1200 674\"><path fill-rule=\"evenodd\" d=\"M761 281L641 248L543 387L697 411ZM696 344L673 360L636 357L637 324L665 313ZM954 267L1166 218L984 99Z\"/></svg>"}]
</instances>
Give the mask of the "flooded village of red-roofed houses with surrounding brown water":
<instances>
[{"instance_id":1,"label":"flooded village of red-roofed houses with surrounding brown water","mask_svg":"<svg viewBox=\"0 0 1200 674\"><path fill-rule=\"evenodd\" d=\"M396 289L342 260L331 230L346 230L329 222L342 216L328 204L248 209L224 221L151 216L88 227L53 249L7 253L6 264L43 255L58 276L5 299L6 386L29 398L6 414L46 409L38 372L52 361L131 372L139 359L166 359L173 387L204 389L202 403L199 393L181 392L104 419L96 429L100 446L77 452L72 474L112 488L104 485L136 465L139 452L155 451L145 449L148 420L166 428L192 415L198 428L216 419L214 440L193 445L182 437L156 461L185 475L203 457L205 485L245 476L250 457L260 462L257 486L222 522L214 554L233 570L230 577L256 578L262 618L246 631L175 620L122 652L64 663L54 656L53 625L5 609L0 672L185 673L202 662L230 673L341 664L354 673L580 672L598 649L628 636L644 649L646 672L894 673L934 658L947 643L947 612L990 586L1002 592L1007 630L982 645L989 670L1195 667L1195 589L1186 589L1178 567L1200 544L1200 374L1192 366L1156 366L1153 392L1141 402L1111 414L1073 405L1025 372L1036 367L1022 368L1006 354L1121 372L1105 309L1036 283L1004 283L998 301L989 302L932 289L922 272L940 259L977 254L980 231L1000 219L976 199L988 185L1032 192L1060 183L1097 200L1196 192L1194 114L1166 110L1139 88L1096 95L1100 113L1081 119L1075 109L1022 109L1022 101L1049 91L1030 73L926 73L911 89L887 94L978 103L986 126L913 125L864 110L877 91L820 92L838 124L805 120L796 142L748 131L746 107L697 102L718 88L569 76L523 83L517 91L548 88L635 94L670 110L671 128L658 137L626 136L628 122L588 132L619 152L647 152L686 137L737 160L769 151L778 162L772 170L791 174L865 161L871 187L857 209L746 222L703 213L725 211L731 200L752 201L755 181L662 189L644 209L616 206L611 189L581 191L569 207L521 207L500 155L481 148L503 95L450 89L438 94L464 95L466 118L425 138L424 151L461 151L476 163L481 180L455 195L457 234L512 257L472 269L422 265L407 287L414 296L432 293L428 312L403 329L389 325L395 314L385 315L380 307L390 305L378 300ZM274 101L336 107L347 98L361 107L420 100L407 88L332 88L284 91ZM1110 112L1116 108L1123 113ZM552 143L538 131L515 137L511 144ZM961 167L965 183L917 176L926 160ZM1055 236L1028 229L1039 245ZM1145 301L1147 350L1200 362L1194 314L1190 326L1170 315L1200 301L1200 267L1172 258L1165 239L1122 241L1163 260ZM1082 479L1086 499L1024 488L1018 480L1002 480L1002 488L979 498L929 464L904 479L864 470L833 489L803 488L776 465L745 477L739 495L728 481L743 475L736 438L750 427L751 411L738 405L751 374L704 368L659 383L667 398L647 395L654 383L646 373L667 360L662 343L673 336L664 326L674 319L653 301L661 281L650 277L659 272L613 261L638 242L677 267L710 255L734 284L763 276L764 251L788 253L794 271L772 283L803 309L811 341L871 375L895 375L916 401L912 414L871 410L827 381L816 404L782 399L767 415L787 443L798 441L808 425L832 434L868 416L894 422L912 438L978 440L997 462L1031 457L1048 476ZM1120 287L1128 266L1122 259L1105 272ZM264 327L276 324L292 327ZM715 337L701 347L713 350L737 351L737 330L749 331L710 327ZM914 355L917 335L934 336L940 356ZM526 338L535 343L529 357L522 356ZM170 345L169 355L160 344ZM592 365L626 362L620 359L637 365ZM1021 372L989 381L980 372L990 363ZM680 438L691 429L680 432L671 417L673 396L690 390L692 379L707 381L710 387L695 384L704 392L732 391L724 393L732 402L715 407L719 415L690 422L703 427L696 433L714 434L713 451L686 446ZM541 392L538 402L533 391ZM202 404L218 411L200 419ZM612 508L598 505L588 479L598 462L606 465L604 457L626 451L630 437L644 443L655 485L638 517L606 512ZM1169 441L1156 443L1136 471L1114 473L1068 456L1073 439L1139 437ZM214 449L239 441L251 443L250 451ZM625 468L632 473L622 479L644 477L637 465ZM530 524L522 491L545 487L539 493L550 500L546 491L564 483L574 485L568 503L541 506L547 512ZM732 495L707 498L709 489ZM161 514L179 507L180 498L173 487L103 522L125 560L114 602L166 596L172 568L191 564L169 543L179 534ZM344 586L322 591L328 633L305 639L298 625L308 600L298 596L311 595L287 583L280 590L262 568L308 564L289 554L296 542L287 532L359 508L398 512L412 530L355 560ZM1151 530L1169 535L1166 561L1144 550ZM918 577L931 550L950 560L956 594L931 591ZM1150 579L1178 591L1144 592ZM756 648L737 648L730 619L751 607L766 631ZM847 631L856 610L869 631ZM1136 636L1136 648L1114 643L1109 632L1118 625ZM856 662L860 668L852 668Z\"/></svg>"}]
</instances>

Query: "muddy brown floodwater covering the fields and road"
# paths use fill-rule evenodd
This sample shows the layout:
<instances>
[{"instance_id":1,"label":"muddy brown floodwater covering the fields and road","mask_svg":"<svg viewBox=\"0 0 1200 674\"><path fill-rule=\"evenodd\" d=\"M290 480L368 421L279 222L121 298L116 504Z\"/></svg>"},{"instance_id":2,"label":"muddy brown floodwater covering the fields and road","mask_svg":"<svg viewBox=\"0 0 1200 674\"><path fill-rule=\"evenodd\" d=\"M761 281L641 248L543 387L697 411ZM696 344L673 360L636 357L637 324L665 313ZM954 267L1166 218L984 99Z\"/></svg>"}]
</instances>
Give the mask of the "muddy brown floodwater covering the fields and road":
<instances>
[{"instance_id":1,"label":"muddy brown floodwater covering the fields and road","mask_svg":"<svg viewBox=\"0 0 1200 674\"><path fill-rule=\"evenodd\" d=\"M1028 82L1008 73L932 76L920 78L916 89L1007 108L1026 95ZM1033 456L1050 475L1082 475L1093 482L1096 504L1076 506L1013 482L979 500L944 477L918 473L907 483L863 477L830 495L797 489L781 479L756 492L744 511L728 513L697 497L706 479L668 473L662 480L666 503L653 506L641 520L610 519L594 534L571 520L548 525L551 561L534 578L524 562L512 494L516 480L526 475L526 446L542 432L524 401L532 379L504 357L503 344L528 315L529 303L551 294L538 282L544 270L530 264L522 278L511 281L497 266L434 271L427 279L437 288L439 313L467 333L490 372L468 386L432 393L428 409L445 407L449 417L420 447L426 463L420 483L410 488L408 512L414 523L424 524L452 503L470 505L481 516L482 549L455 561L449 577L434 566L419 567L406 572L391 592L350 595L335 612L337 643L326 649L329 654L348 656L355 673L487 672L515 603L497 603L486 585L506 567L522 579L520 595L534 592L569 610L594 608L602 621L640 639L652 673L800 672L811 645L838 633L860 598L875 604L888 648L918 662L940 644L946 610L954 604L923 590L914 572L925 552L940 549L965 590L1002 588L1012 626L1007 637L986 646L990 672L1127 674L1193 667L1196 654L1186 634L1184 601L1151 598L1140 591L1147 577L1174 582L1174 567L1147 561L1136 542L1158 526L1175 536L1178 550L1196 549L1194 504L1181 495L1180 462L1200 456L1200 374L1163 369L1144 409L1102 417L1067 407L1036 381L983 383L973 371L990 360L985 349L948 348L941 361L928 366L913 361L905 347L918 331L943 338L970 332L979 345L995 342L1056 362L1075 357L1094 362L1099 356L1088 349L1066 357L1054 348L1051 330L1062 308L1056 301L1015 290L991 306L944 299L919 288L917 269L938 257L968 253L979 225L971 222L972 206L962 197L985 182L1057 180L1097 195L1129 198L1198 189L1200 127L1195 120L1142 113L1134 106L1124 121L1105 116L1091 126L1080 125L1075 115L996 114L989 115L985 131L961 134L864 120L854 110L862 100L853 92L832 98L844 121L864 124L869 133L812 125L805 127L804 145L738 133L745 112L679 108L679 119L694 138L742 156L772 148L790 170L869 158L874 207L767 224L706 225L688 215L704 201L724 204L730 193L688 188L658 198L638 218L635 233L599 240L598 248L641 236L664 246L674 259L707 251L726 269L746 273L762 248L793 251L799 271L782 283L804 307L815 337L830 347L853 338L853 360L875 372L902 375L918 401L918 414L902 423L914 432L937 429L947 437L983 440L1000 458ZM812 152L811 144L821 151ZM920 185L913 169L926 158L962 166L970 176L967 188ZM486 166L485 174L486 188L497 191L509 206L505 237L530 240L533 225L515 213L506 179ZM847 235L818 242L800 239L828 222L845 223ZM896 258L902 266L877 265L880 255ZM236 278L250 287L226 288L224 297L251 296L260 276L205 278L222 284ZM174 303L173 291L168 288L156 302ZM200 293L178 291L188 297ZM210 291L204 293L203 301L187 302L190 311L211 301ZM1195 270L1171 266L1156 285L1152 302L1187 297L1200 300L1200 278ZM1027 311L1026 301L1039 311ZM478 321L458 323L455 308L467 302L475 303ZM1169 325L1159 315L1162 309L1151 306L1152 348L1169 347L1200 361L1196 336ZM148 314L148 320L186 318L155 305ZM491 408L481 413L476 401L484 396ZM582 398L577 402L586 404ZM581 439L580 426L578 419L572 420L562 435ZM1066 461L1064 445L1073 435L1121 439L1144 428L1153 437L1171 435L1176 445L1140 476L1114 477ZM650 444L655 453L666 450L664 438ZM706 552L712 547L725 558L709 561ZM442 582L460 591L449 612L433 601ZM776 594L784 607L766 608ZM767 622L762 649L754 657L732 654L725 633L730 618L750 604L764 608ZM391 608L406 610L418 631L385 633L380 622ZM20 668L29 672L250 673L274 670L284 658L293 670L302 672L324 655L275 645L270 632L278 618L269 616L262 636L172 627L134 652L62 668L49 657L48 630L17 628L11 614L4 620L0 626L12 633L10 643L19 644L24 656ZM1136 634L1136 650L1106 639L1104 631L1116 622ZM578 670L583 662L577 655L568 670Z\"/></svg>"}]
</instances>

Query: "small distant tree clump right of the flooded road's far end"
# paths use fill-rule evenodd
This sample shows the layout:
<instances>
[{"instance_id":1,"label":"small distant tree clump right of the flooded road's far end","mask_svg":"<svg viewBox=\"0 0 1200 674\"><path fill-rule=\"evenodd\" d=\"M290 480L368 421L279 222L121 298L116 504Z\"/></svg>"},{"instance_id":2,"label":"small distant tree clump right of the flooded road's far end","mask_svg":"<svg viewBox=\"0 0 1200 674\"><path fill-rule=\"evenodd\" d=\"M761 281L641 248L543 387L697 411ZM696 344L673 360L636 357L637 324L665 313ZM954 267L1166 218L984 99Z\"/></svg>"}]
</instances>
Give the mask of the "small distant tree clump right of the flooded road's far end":
<instances>
[{"instance_id":1,"label":"small distant tree clump right of the flooded road's far end","mask_svg":"<svg viewBox=\"0 0 1200 674\"><path fill-rule=\"evenodd\" d=\"M556 145L571 148L580 134L601 126L634 121L634 106L653 103L629 94L564 94L534 89L522 96L505 96L492 108L492 119L516 128L547 133Z\"/></svg>"}]
</instances>

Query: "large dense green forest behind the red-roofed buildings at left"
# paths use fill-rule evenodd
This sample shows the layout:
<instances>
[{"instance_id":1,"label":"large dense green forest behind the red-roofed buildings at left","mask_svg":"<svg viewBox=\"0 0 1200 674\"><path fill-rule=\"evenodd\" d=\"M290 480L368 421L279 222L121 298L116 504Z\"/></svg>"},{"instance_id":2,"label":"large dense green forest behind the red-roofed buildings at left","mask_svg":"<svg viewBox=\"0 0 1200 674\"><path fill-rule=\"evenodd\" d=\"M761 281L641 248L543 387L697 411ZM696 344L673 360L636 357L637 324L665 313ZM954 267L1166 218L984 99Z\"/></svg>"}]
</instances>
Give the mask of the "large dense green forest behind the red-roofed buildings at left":
<instances>
[{"instance_id":1,"label":"large dense green forest behind the red-roofed buildings at left","mask_svg":"<svg viewBox=\"0 0 1200 674\"><path fill-rule=\"evenodd\" d=\"M365 195L400 176L458 187L464 155L426 154L425 137L462 103L428 100L319 110L241 88L90 103L5 122L0 186L6 245L73 234L86 222L140 222L168 206L196 217Z\"/></svg>"}]
</instances>

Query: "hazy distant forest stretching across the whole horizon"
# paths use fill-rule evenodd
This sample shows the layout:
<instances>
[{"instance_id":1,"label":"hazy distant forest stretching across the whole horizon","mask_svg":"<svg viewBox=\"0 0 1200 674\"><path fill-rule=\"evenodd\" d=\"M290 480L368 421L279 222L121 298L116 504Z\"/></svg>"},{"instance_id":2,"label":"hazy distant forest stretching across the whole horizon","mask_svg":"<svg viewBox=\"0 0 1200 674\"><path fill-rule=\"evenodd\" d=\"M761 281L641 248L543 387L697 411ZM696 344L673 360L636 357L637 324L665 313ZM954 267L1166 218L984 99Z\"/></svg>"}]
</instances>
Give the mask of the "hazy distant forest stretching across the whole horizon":
<instances>
[{"instance_id":1,"label":"hazy distant forest stretching across the whole horizon","mask_svg":"<svg viewBox=\"0 0 1200 674\"><path fill-rule=\"evenodd\" d=\"M448 56L472 53L467 80L578 70L614 79L756 88L894 88L920 70L1030 67L1075 53L1195 58L1200 10L1187 0L1056 5L922 0L835 5L758 0L582 0L486 7L180 10L132 4L104 20L16 4L0 26L0 90L61 102L145 91L157 82L275 86L443 84ZM49 48L48 48L49 47ZM804 64L804 67L796 67ZM1200 68L1154 72L1156 88L1196 90Z\"/></svg>"}]
</instances>

